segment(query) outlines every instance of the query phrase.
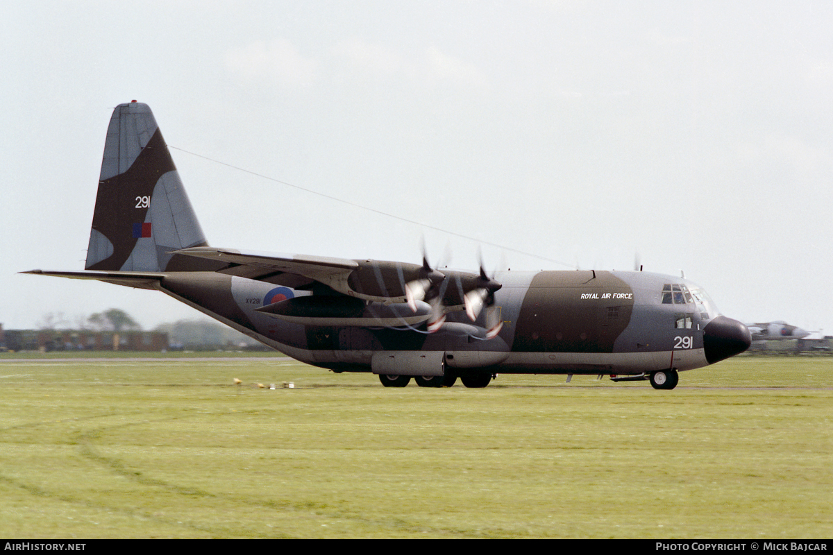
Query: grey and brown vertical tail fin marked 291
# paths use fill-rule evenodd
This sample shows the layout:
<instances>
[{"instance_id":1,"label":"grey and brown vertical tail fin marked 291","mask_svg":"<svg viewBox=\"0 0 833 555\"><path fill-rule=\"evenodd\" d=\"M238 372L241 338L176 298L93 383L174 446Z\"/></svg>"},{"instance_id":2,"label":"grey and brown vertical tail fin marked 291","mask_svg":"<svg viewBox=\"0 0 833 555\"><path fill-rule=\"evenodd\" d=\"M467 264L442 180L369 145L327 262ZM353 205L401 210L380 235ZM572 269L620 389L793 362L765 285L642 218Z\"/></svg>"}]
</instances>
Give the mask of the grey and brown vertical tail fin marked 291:
<instances>
[{"instance_id":1,"label":"grey and brown vertical tail fin marked 291","mask_svg":"<svg viewBox=\"0 0 833 555\"><path fill-rule=\"evenodd\" d=\"M147 104L120 104L104 143L87 270L202 270L168 254L207 245ZM184 262L184 261L183 261ZM190 263L188 265L191 265Z\"/></svg>"}]
</instances>

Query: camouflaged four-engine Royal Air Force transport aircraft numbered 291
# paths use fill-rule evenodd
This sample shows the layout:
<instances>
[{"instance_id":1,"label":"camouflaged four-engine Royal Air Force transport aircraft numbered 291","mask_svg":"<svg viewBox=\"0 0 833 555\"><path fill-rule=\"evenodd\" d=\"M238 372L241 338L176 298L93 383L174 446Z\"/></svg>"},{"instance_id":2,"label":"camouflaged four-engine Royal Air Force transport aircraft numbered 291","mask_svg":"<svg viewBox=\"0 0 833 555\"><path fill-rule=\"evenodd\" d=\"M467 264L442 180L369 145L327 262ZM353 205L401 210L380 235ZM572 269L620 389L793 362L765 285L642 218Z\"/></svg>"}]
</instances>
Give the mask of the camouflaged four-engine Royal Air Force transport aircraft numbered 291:
<instances>
[{"instance_id":1,"label":"camouflaged four-engine Royal Air Force transport aircraft numbered 291","mask_svg":"<svg viewBox=\"0 0 833 555\"><path fill-rule=\"evenodd\" d=\"M83 271L160 290L307 364L382 384L485 387L497 373L611 375L673 389L749 348L690 281L641 271L498 271L214 248L147 105L116 107ZM569 379L569 378L568 378Z\"/></svg>"}]
</instances>

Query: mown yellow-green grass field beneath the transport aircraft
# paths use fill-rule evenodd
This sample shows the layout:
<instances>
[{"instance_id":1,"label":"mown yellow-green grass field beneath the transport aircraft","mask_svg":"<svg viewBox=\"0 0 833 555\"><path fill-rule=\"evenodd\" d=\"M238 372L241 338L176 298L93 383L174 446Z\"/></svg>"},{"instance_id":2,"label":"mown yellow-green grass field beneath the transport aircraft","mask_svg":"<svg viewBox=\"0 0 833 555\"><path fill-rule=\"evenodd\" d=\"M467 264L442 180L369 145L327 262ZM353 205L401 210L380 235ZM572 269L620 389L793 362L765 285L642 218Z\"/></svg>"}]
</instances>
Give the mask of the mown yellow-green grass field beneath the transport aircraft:
<instances>
[{"instance_id":1,"label":"mown yellow-green grass field beneath the transport aircraft","mask_svg":"<svg viewBox=\"0 0 833 555\"><path fill-rule=\"evenodd\" d=\"M833 536L828 357L741 357L655 391L3 356L0 399L6 538Z\"/></svg>"}]
</instances>

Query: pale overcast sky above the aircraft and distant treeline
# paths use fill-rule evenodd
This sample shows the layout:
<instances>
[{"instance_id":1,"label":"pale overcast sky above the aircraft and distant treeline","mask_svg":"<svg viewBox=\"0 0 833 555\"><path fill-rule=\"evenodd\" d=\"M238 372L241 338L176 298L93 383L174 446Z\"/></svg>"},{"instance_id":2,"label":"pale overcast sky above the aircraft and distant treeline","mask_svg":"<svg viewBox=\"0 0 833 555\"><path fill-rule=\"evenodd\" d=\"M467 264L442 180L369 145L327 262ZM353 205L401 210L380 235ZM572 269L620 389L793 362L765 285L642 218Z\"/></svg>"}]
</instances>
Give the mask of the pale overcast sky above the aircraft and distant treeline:
<instances>
[{"instance_id":1,"label":"pale overcast sky above the aircraft and distant treeline","mask_svg":"<svg viewBox=\"0 0 833 555\"><path fill-rule=\"evenodd\" d=\"M478 247L490 269L638 255L732 318L830 334L831 30L821 1L2 2L0 323L198 315L17 274L83 268L107 123L136 99L211 245L419 263L424 236L466 270Z\"/></svg>"}]
</instances>

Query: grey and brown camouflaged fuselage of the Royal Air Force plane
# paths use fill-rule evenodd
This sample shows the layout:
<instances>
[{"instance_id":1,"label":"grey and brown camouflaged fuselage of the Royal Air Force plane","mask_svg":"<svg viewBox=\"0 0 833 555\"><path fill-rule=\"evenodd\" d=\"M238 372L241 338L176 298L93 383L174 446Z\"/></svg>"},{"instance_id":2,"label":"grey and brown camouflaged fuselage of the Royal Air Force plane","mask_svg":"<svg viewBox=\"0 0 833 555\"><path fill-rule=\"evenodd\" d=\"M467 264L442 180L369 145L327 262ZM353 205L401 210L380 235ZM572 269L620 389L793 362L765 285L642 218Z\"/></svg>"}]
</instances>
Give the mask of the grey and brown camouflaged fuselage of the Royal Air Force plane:
<instances>
[{"instance_id":1,"label":"grey and brown camouflaged fuselage of the Royal Air Force plane","mask_svg":"<svg viewBox=\"0 0 833 555\"><path fill-rule=\"evenodd\" d=\"M717 316L711 301L662 304L668 284L696 289L686 280L607 271L498 272L495 277L503 285L494 305L503 327L492 339L481 333L484 315L472 323L461 311L451 312L433 334L425 325L287 322L256 309L272 300L275 290L282 290L277 302L307 291L215 272L168 273L159 288L293 358L336 370L370 371L372 355L379 351L441 352L451 368L510 373L639 374L709 364L703 329ZM407 315L403 307L402 316Z\"/></svg>"}]
</instances>

